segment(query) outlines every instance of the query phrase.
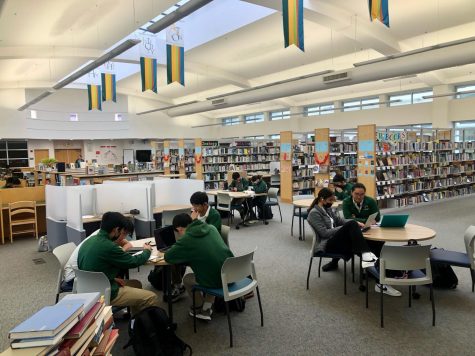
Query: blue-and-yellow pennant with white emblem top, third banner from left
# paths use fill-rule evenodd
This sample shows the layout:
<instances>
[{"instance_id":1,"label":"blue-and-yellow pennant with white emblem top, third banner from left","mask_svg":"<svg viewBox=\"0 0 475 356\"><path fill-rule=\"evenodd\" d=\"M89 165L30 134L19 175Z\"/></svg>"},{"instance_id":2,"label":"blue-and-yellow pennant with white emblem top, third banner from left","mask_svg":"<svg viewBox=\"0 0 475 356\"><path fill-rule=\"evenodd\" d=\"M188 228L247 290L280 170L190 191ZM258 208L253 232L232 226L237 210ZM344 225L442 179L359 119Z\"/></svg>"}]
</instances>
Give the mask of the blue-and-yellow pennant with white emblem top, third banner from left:
<instances>
[{"instance_id":1,"label":"blue-and-yellow pennant with white emblem top, third banner from left","mask_svg":"<svg viewBox=\"0 0 475 356\"><path fill-rule=\"evenodd\" d=\"M143 35L140 43L142 91L157 92L157 44L153 36Z\"/></svg>"}]
</instances>

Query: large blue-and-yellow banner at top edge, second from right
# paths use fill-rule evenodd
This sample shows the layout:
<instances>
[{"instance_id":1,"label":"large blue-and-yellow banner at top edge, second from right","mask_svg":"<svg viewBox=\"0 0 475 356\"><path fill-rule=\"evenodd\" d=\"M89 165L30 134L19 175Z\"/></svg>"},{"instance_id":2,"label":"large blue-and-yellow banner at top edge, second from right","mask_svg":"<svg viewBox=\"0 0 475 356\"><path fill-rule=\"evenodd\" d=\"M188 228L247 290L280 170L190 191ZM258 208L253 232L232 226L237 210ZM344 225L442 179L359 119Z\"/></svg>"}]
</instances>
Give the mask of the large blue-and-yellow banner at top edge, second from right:
<instances>
[{"instance_id":1,"label":"large blue-and-yellow banner at top edge, second from right","mask_svg":"<svg viewBox=\"0 0 475 356\"><path fill-rule=\"evenodd\" d=\"M296 45L303 52L303 0L282 0L285 47Z\"/></svg>"}]
</instances>

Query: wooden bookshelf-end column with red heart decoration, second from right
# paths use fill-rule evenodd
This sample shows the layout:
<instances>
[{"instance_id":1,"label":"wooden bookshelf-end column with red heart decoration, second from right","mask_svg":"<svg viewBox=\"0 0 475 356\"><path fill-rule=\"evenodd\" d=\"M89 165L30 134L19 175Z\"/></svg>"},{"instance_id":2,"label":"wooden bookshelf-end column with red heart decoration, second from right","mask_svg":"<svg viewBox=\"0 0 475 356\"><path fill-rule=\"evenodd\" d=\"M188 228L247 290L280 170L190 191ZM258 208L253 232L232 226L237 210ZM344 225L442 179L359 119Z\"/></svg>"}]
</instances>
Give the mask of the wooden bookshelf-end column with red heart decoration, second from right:
<instances>
[{"instance_id":1,"label":"wooden bookshelf-end column with red heart decoration, second from right","mask_svg":"<svg viewBox=\"0 0 475 356\"><path fill-rule=\"evenodd\" d=\"M330 184L330 129L315 130L315 196Z\"/></svg>"}]
</instances>

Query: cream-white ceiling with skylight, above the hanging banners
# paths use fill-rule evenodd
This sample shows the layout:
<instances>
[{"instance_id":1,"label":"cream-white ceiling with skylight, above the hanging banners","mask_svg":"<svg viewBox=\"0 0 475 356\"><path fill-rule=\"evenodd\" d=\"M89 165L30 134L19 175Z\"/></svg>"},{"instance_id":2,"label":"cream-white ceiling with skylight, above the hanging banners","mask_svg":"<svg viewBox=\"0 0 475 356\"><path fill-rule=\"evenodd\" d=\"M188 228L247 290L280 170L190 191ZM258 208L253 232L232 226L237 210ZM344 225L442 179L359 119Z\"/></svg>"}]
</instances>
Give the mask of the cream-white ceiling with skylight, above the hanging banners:
<instances>
[{"instance_id":1,"label":"cream-white ceiling with skylight, above the hanging banners","mask_svg":"<svg viewBox=\"0 0 475 356\"><path fill-rule=\"evenodd\" d=\"M193 0L192 0L193 1ZM97 58L177 0L0 0L0 88L48 88ZM307 75L475 35L474 0L390 0L391 28L370 22L366 0L306 0L305 52L284 48L280 0L215 0L188 18L185 87L143 94L138 51L121 56L119 93L157 100L157 108ZM159 37L163 38L163 34ZM135 52L134 52L135 51ZM414 78L359 84L254 105L208 117L454 82L475 82L475 65ZM79 83L81 81L78 81ZM81 87L81 85L80 85ZM84 85L82 85L84 87ZM67 90L67 89L63 89Z\"/></svg>"}]
</instances>

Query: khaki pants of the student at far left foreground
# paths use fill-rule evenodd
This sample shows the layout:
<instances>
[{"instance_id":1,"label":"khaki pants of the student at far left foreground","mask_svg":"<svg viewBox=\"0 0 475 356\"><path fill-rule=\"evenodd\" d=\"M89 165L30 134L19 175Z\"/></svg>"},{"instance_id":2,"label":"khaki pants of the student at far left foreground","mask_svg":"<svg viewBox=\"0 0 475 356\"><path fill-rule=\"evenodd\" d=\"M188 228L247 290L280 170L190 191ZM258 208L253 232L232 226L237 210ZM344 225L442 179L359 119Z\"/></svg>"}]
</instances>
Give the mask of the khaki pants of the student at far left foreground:
<instances>
[{"instance_id":1,"label":"khaki pants of the student at far left foreground","mask_svg":"<svg viewBox=\"0 0 475 356\"><path fill-rule=\"evenodd\" d=\"M119 288L119 293L111 305L115 307L130 307L132 316L139 311L155 306L160 306L158 296L149 290L142 289L142 283L135 279L125 280L125 286Z\"/></svg>"}]
</instances>

